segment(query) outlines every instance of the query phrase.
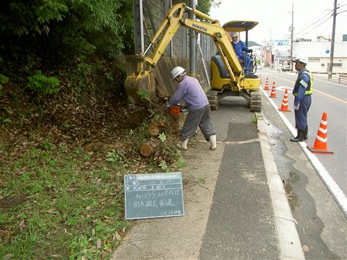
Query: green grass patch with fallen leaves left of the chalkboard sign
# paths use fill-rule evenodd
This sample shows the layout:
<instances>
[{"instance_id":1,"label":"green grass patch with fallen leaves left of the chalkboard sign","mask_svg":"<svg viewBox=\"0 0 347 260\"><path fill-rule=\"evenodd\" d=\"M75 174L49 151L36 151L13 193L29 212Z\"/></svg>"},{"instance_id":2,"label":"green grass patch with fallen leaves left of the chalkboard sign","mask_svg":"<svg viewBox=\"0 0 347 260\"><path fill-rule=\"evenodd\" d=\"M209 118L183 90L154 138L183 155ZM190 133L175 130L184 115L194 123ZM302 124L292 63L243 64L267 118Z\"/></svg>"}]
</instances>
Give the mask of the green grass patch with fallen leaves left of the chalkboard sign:
<instances>
[{"instance_id":1,"label":"green grass patch with fallen leaves left of the chalkboard sign","mask_svg":"<svg viewBox=\"0 0 347 260\"><path fill-rule=\"evenodd\" d=\"M129 138L145 139L136 131ZM179 150L163 147L160 160L147 159L137 170L185 166ZM4 144L0 150L9 152ZM131 225L124 219L124 174L135 173L130 167L139 161L130 158L42 141L0 164L0 257L109 259Z\"/></svg>"}]
</instances>

